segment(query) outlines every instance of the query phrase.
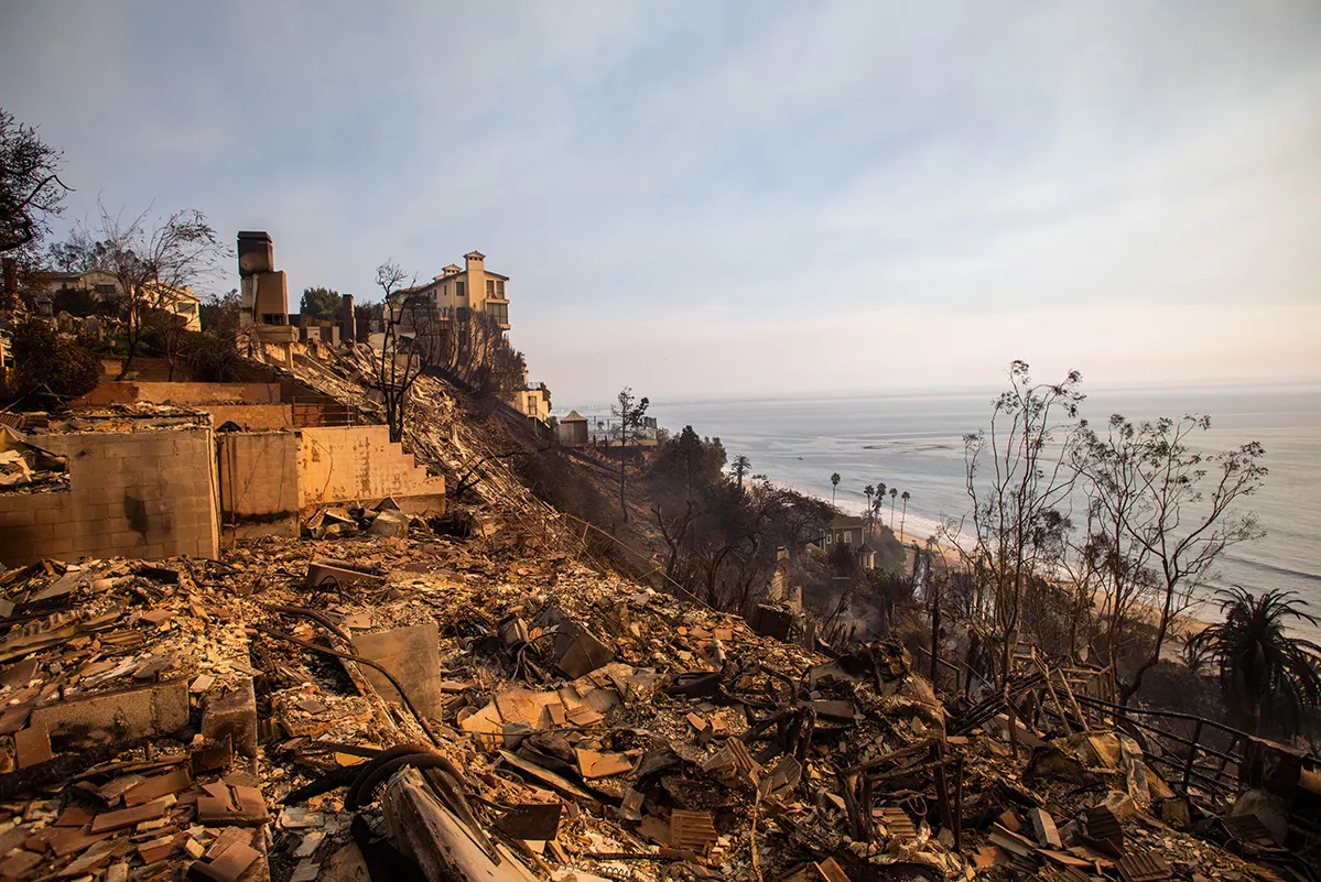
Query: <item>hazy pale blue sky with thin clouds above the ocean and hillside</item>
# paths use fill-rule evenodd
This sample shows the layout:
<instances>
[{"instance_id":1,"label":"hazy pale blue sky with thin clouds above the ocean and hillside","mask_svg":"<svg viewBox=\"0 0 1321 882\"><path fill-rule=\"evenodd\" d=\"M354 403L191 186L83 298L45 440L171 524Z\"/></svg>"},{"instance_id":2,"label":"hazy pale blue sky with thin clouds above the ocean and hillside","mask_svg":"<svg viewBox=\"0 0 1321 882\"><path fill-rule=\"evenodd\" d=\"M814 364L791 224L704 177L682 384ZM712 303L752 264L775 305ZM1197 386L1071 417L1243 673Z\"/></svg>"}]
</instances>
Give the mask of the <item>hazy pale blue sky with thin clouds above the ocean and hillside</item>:
<instances>
[{"instance_id":1,"label":"hazy pale blue sky with thin clouds above the ocean and hillside","mask_svg":"<svg viewBox=\"0 0 1321 882\"><path fill-rule=\"evenodd\" d=\"M557 407L1310 382L1317 46L1314 0L0 0L0 107L58 230L267 230L293 309L485 252Z\"/></svg>"}]
</instances>

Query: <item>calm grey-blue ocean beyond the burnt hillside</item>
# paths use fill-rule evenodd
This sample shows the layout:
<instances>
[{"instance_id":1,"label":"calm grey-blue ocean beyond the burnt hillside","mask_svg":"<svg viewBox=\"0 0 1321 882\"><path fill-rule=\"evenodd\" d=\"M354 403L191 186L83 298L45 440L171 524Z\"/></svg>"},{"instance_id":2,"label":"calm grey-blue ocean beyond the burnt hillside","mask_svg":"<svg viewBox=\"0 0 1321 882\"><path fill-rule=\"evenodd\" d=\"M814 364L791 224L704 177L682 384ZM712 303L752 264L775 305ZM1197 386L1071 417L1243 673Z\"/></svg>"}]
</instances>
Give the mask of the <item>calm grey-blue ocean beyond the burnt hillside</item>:
<instances>
[{"instance_id":1,"label":"calm grey-blue ocean beyond the burnt hillside","mask_svg":"<svg viewBox=\"0 0 1321 882\"><path fill-rule=\"evenodd\" d=\"M731 459L738 454L752 459L754 474L824 499L831 499L830 475L838 471L836 503L845 511L863 511L867 485L885 482L901 494L908 491L908 514L902 516L902 502L894 500L893 524L897 531L902 516L905 539L911 540L929 536L942 518L968 515L963 434L988 425L995 395L653 401L650 415L672 432L692 425L701 436L719 437ZM1256 512L1266 536L1227 552L1211 588L1296 592L1321 618L1321 387L1087 392L1081 416L1099 426L1111 413L1133 420L1210 415L1210 430L1194 438L1203 450L1260 441L1269 474L1244 504ZM886 523L890 518L888 500ZM1197 614L1218 618L1214 607L1202 606ZM1295 630L1321 642L1318 627L1301 623Z\"/></svg>"}]
</instances>

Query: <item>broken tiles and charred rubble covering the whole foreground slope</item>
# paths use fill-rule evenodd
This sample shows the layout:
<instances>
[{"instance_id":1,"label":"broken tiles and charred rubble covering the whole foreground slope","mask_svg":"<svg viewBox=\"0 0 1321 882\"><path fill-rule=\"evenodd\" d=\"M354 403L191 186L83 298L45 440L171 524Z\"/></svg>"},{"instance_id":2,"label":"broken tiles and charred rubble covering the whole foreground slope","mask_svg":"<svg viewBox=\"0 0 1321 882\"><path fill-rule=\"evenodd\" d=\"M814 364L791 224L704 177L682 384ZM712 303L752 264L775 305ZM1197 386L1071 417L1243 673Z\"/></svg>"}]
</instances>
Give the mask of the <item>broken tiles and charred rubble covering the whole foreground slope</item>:
<instances>
[{"instance_id":1,"label":"broken tiles and charred rubble covering the whole foreground slope","mask_svg":"<svg viewBox=\"0 0 1321 882\"><path fill-rule=\"evenodd\" d=\"M457 471L481 437L424 380L415 446ZM498 463L476 495L0 574L0 877L1318 879L1309 755L1209 747L1030 651L937 692L897 642L596 566Z\"/></svg>"}]
</instances>

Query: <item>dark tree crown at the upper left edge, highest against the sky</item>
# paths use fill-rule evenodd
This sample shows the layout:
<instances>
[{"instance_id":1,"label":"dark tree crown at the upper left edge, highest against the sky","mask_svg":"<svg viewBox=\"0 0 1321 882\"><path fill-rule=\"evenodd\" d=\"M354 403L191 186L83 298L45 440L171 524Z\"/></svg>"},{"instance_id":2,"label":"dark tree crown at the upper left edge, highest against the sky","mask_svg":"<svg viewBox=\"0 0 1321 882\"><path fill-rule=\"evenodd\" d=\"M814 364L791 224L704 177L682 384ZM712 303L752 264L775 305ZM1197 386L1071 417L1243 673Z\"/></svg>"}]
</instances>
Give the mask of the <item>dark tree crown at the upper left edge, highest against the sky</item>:
<instances>
[{"instance_id":1,"label":"dark tree crown at the upper left edge, highest against the sky","mask_svg":"<svg viewBox=\"0 0 1321 882\"><path fill-rule=\"evenodd\" d=\"M0 255L30 257L59 215L70 187L59 180L62 154L37 129L0 108Z\"/></svg>"}]
</instances>

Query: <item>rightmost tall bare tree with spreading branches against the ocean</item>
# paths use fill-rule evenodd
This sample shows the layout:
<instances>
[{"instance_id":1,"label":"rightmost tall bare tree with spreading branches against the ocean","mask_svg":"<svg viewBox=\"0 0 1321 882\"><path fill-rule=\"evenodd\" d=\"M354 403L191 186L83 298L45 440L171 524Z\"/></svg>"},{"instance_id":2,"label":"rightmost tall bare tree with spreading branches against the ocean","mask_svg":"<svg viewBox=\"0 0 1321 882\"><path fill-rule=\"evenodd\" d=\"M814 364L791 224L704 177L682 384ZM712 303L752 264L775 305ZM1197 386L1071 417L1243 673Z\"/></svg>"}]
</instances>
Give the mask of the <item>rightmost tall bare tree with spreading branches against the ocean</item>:
<instances>
[{"instance_id":1,"label":"rightmost tall bare tree with spreading branches against the ocean","mask_svg":"<svg viewBox=\"0 0 1321 882\"><path fill-rule=\"evenodd\" d=\"M1255 441L1223 453L1194 449L1190 437L1210 426L1206 416L1135 424L1115 415L1104 434L1082 432L1077 462L1099 507L1092 548L1106 576L1112 664L1135 610L1155 609L1156 636L1120 685L1122 702L1160 662L1176 618L1213 578L1225 552L1262 536L1256 516L1238 503L1262 486L1266 452Z\"/></svg>"}]
</instances>

